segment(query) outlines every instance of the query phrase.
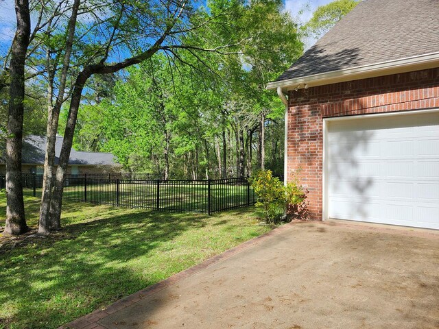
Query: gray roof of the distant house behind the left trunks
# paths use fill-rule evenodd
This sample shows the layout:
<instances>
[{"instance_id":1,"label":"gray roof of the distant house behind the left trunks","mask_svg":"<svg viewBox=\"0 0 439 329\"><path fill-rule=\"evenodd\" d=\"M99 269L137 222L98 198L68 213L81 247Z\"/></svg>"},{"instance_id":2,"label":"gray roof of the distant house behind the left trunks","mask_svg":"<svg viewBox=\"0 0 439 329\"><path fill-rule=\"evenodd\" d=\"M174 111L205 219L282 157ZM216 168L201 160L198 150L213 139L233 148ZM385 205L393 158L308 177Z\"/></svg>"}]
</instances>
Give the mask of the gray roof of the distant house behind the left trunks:
<instances>
[{"instance_id":1,"label":"gray roof of the distant house behind the left trunks","mask_svg":"<svg viewBox=\"0 0 439 329\"><path fill-rule=\"evenodd\" d=\"M61 153L62 137L56 137L55 145L55 164ZM46 138L41 136L27 136L23 141L23 164L44 164L46 149ZM0 158L0 162L4 163L4 158ZM111 153L102 152L84 152L71 149L69 164L77 165L95 165L95 166L117 166L115 156Z\"/></svg>"}]
</instances>

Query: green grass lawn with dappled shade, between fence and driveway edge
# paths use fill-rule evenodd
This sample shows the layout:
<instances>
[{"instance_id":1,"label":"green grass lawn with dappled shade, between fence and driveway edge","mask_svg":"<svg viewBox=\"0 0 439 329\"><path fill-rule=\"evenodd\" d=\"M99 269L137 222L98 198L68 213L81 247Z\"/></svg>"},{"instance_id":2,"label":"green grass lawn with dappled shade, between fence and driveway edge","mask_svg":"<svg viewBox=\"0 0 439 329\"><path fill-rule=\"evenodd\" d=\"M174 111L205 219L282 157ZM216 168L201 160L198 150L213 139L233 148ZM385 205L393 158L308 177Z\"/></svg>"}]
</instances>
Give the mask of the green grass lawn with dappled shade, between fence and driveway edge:
<instances>
[{"instance_id":1,"label":"green grass lawn with dappled shade, between fence and driveway edge","mask_svg":"<svg viewBox=\"0 0 439 329\"><path fill-rule=\"evenodd\" d=\"M25 193L33 228L38 202ZM62 223L45 239L0 234L0 328L57 328L270 230L254 208L209 217L68 200Z\"/></svg>"}]
</instances>

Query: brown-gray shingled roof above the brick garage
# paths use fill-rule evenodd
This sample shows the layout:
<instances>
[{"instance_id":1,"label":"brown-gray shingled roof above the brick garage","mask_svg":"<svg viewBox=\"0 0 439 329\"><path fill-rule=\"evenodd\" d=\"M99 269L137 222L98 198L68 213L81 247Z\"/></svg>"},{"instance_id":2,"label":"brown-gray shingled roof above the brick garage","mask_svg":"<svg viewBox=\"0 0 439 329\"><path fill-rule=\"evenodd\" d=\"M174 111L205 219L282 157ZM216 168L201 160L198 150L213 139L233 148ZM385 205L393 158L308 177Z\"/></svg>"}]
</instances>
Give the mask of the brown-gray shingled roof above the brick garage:
<instances>
[{"instance_id":1,"label":"brown-gray shingled roof above the brick garage","mask_svg":"<svg viewBox=\"0 0 439 329\"><path fill-rule=\"evenodd\" d=\"M439 0L364 0L276 81L439 51Z\"/></svg>"}]
</instances>

